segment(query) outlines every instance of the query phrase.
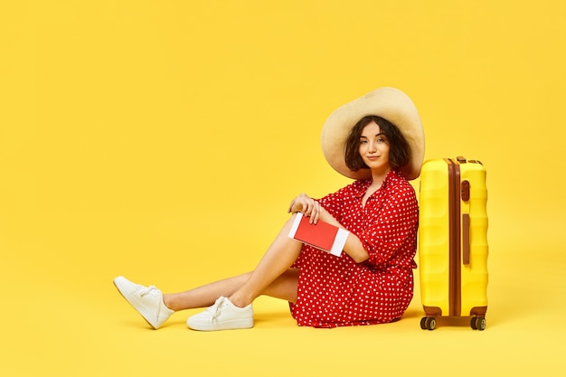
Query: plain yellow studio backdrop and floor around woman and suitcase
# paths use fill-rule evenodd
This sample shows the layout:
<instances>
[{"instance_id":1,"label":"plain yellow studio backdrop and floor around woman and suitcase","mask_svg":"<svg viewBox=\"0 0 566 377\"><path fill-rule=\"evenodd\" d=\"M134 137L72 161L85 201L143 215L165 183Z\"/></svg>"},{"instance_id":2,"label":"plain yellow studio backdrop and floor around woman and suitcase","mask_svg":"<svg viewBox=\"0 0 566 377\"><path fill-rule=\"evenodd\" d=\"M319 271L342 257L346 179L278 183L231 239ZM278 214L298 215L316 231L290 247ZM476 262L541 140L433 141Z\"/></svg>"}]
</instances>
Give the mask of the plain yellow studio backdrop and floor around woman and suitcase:
<instances>
[{"instance_id":1,"label":"plain yellow studio backdrop and floor around woman and suitcase","mask_svg":"<svg viewBox=\"0 0 566 377\"><path fill-rule=\"evenodd\" d=\"M2 2L0 374L563 374L565 45L561 0ZM486 165L486 331L420 330L418 284L392 325L300 328L260 297L249 331L149 330L112 278L253 269L297 193L348 182L320 129L380 86L426 158Z\"/></svg>"}]
</instances>

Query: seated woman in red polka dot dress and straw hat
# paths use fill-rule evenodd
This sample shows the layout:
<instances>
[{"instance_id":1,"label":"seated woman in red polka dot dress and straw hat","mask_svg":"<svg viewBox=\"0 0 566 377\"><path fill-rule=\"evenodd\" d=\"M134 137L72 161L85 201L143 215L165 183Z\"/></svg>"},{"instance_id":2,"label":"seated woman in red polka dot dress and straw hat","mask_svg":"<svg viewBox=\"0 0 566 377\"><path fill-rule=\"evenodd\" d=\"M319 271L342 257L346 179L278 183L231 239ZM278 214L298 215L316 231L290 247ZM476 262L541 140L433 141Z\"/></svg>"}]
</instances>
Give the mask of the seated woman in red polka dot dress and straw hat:
<instances>
[{"instance_id":1,"label":"seated woman in red polka dot dress and straw hat","mask_svg":"<svg viewBox=\"0 0 566 377\"><path fill-rule=\"evenodd\" d=\"M315 200L300 194L292 213L253 271L162 294L126 278L114 284L158 328L175 311L209 306L189 317L194 330L253 326L260 295L287 300L298 325L373 325L401 318L413 295L417 200L407 181L420 174L424 136L412 101L381 88L335 110L322 134L326 160L353 184ZM288 237L297 212L349 231L336 257Z\"/></svg>"}]
</instances>

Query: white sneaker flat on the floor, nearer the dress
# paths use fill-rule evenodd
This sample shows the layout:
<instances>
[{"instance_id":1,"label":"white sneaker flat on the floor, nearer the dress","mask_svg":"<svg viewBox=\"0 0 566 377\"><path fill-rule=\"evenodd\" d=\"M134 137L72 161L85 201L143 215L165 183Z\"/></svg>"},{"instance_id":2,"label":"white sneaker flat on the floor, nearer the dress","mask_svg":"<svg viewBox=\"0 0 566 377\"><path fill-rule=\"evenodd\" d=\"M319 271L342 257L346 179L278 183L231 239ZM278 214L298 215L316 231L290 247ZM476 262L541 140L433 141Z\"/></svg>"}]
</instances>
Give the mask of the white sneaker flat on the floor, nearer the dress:
<instances>
[{"instance_id":1,"label":"white sneaker flat on the floor, nearer the dress","mask_svg":"<svg viewBox=\"0 0 566 377\"><path fill-rule=\"evenodd\" d=\"M193 330L215 331L253 327L251 304L238 307L226 297L220 297L214 305L202 313L190 316L186 324Z\"/></svg>"}]
</instances>

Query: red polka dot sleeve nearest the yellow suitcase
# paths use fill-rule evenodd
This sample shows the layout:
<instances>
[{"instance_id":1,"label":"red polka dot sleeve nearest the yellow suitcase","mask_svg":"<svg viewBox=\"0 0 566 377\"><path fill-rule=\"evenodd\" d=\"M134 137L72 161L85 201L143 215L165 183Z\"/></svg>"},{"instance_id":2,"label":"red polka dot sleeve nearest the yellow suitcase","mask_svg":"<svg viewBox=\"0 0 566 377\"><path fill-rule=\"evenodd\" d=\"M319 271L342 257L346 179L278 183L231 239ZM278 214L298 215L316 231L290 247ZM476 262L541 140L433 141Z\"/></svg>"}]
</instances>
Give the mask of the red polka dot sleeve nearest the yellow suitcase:
<instances>
[{"instance_id":1,"label":"red polka dot sleeve nearest the yellow suitcase","mask_svg":"<svg viewBox=\"0 0 566 377\"><path fill-rule=\"evenodd\" d=\"M414 190L410 185L395 190L384 200L382 208L375 220L358 234L363 248L370 258L366 264L378 266L393 259L401 247L414 238L419 221L419 206ZM400 260L402 263L403 261Z\"/></svg>"}]
</instances>

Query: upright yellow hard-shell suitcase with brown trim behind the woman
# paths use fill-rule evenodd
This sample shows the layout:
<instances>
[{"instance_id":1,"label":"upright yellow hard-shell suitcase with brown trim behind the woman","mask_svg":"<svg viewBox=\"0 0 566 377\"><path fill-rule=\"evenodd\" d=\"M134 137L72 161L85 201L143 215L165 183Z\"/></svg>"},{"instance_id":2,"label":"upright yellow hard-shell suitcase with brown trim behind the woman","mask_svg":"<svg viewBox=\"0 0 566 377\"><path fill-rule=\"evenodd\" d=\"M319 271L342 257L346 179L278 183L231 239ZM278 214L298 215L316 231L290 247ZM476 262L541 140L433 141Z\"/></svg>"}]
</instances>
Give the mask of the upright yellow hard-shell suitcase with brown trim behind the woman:
<instances>
[{"instance_id":1,"label":"upright yellow hard-shell suitcase with brown trim behind the woman","mask_svg":"<svg viewBox=\"0 0 566 377\"><path fill-rule=\"evenodd\" d=\"M434 330L438 316L469 316L486 328L486 169L479 161L426 161L420 173L420 327Z\"/></svg>"}]
</instances>

